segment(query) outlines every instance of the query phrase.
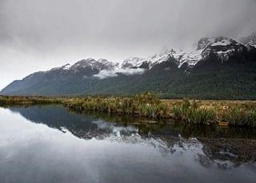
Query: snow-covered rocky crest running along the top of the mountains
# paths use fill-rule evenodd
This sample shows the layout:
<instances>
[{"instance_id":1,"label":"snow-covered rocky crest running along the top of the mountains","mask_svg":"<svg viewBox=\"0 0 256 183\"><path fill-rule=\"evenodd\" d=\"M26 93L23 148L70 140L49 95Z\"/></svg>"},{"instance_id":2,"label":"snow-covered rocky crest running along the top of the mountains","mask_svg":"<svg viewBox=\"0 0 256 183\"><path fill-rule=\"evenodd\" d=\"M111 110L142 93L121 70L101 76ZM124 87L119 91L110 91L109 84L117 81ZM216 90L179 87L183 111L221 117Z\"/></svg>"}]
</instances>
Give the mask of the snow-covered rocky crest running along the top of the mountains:
<instances>
[{"instance_id":1,"label":"snow-covered rocky crest running along the top of the mountains","mask_svg":"<svg viewBox=\"0 0 256 183\"><path fill-rule=\"evenodd\" d=\"M198 41L198 45L188 51L183 50L164 50L160 54L154 54L148 58L126 58L121 64L109 62L106 59L87 58L76 62L73 66L67 64L52 70L71 70L74 73L79 70L90 68L90 70L98 70L98 74L94 74L94 78L110 78L116 77L118 74L133 75L143 74L146 70L150 70L154 66L174 58L178 68L184 64L189 68L194 67L199 61L207 58L210 54L215 54L222 62L228 60L234 53L248 49L248 45L256 47L256 33L250 37L243 38L242 43L232 38L202 38Z\"/></svg>"}]
</instances>

